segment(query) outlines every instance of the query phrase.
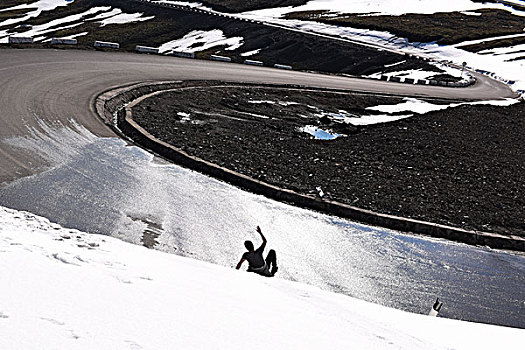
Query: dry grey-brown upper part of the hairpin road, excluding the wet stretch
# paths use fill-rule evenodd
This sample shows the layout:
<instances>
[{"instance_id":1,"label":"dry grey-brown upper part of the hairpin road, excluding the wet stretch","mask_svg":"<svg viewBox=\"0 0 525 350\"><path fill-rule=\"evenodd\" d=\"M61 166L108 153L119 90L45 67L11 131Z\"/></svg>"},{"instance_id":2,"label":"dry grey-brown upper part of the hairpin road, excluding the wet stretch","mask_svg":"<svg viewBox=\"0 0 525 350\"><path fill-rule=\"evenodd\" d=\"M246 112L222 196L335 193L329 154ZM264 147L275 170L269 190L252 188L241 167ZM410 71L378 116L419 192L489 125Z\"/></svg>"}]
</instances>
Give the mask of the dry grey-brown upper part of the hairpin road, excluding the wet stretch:
<instances>
[{"instance_id":1,"label":"dry grey-brown upper part of the hairpin road, excluding the wet stretch","mask_svg":"<svg viewBox=\"0 0 525 350\"><path fill-rule=\"evenodd\" d=\"M473 87L451 89L288 72L173 57L95 51L0 50L0 139L27 133L39 121L74 120L98 136L114 136L94 115L92 99L104 89L139 81L208 79L298 84L407 96L452 99L512 97L504 84L479 76ZM38 116L35 118L34 116ZM0 145L0 184L35 173L41 160Z\"/></svg>"}]
</instances>

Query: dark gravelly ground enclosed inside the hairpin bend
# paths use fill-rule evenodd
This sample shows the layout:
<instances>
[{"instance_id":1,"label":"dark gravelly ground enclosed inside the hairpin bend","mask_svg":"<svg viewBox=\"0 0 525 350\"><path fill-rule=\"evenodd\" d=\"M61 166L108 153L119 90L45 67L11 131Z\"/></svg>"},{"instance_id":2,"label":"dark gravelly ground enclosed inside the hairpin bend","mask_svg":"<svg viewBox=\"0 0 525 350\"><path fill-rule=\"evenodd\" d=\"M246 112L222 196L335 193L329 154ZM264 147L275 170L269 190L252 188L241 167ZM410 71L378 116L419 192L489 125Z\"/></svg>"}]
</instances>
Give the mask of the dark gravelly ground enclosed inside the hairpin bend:
<instances>
[{"instance_id":1,"label":"dark gravelly ground enclosed inside the hairpin bend","mask_svg":"<svg viewBox=\"0 0 525 350\"><path fill-rule=\"evenodd\" d=\"M462 106L368 127L316 115L344 109L359 116L372 113L367 106L400 101L197 87L147 99L134 119L191 155L300 193L320 186L326 198L364 209L525 236L523 103ZM346 136L314 139L299 130L306 125Z\"/></svg>"}]
</instances>

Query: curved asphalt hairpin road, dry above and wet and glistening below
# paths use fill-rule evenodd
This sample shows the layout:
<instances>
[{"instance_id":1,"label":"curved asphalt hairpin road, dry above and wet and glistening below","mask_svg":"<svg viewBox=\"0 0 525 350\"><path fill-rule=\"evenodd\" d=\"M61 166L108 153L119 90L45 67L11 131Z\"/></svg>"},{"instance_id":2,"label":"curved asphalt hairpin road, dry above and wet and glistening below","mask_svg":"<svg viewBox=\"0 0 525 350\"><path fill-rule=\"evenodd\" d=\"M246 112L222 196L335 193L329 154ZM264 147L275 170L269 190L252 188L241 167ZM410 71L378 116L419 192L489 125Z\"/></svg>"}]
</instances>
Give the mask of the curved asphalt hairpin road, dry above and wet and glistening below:
<instances>
[{"instance_id":1,"label":"curved asphalt hairpin road, dry above and wet and glistening below","mask_svg":"<svg viewBox=\"0 0 525 350\"><path fill-rule=\"evenodd\" d=\"M0 50L0 205L66 227L232 266L261 225L279 277L416 313L525 328L525 259L405 235L277 203L166 164L126 143L92 110L113 86L214 79L453 99L512 97L479 77L466 89L123 53ZM32 176L31 176L32 175Z\"/></svg>"}]
</instances>

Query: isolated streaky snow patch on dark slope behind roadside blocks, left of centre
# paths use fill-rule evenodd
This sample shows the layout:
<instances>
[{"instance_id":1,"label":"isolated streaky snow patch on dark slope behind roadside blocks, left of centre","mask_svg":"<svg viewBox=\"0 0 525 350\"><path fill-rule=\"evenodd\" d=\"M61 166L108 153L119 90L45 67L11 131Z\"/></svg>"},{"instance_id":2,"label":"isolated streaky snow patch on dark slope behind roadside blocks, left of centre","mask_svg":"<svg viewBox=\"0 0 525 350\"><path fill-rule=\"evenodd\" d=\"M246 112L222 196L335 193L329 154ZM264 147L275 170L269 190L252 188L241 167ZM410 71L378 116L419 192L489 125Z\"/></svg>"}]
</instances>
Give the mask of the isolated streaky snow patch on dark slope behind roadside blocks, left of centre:
<instances>
[{"instance_id":1,"label":"isolated streaky snow patch on dark slope behind roadside blocks, left of centre","mask_svg":"<svg viewBox=\"0 0 525 350\"><path fill-rule=\"evenodd\" d=\"M243 40L243 37L240 36L227 38L220 29L209 31L193 30L180 39L175 39L161 45L159 52L198 52L216 46L226 46L225 50L236 50L244 44Z\"/></svg>"}]
</instances>

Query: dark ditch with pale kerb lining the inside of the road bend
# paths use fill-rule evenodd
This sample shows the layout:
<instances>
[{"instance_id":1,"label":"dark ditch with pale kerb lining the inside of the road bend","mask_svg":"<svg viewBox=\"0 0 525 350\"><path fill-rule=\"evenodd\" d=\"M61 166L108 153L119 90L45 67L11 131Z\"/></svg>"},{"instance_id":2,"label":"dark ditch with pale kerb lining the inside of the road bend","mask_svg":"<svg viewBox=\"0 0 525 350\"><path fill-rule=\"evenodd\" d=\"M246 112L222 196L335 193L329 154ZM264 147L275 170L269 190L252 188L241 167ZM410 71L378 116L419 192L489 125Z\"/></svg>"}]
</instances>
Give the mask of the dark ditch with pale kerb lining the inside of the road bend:
<instances>
[{"instance_id":1,"label":"dark ditch with pale kerb lining the inside of the road bend","mask_svg":"<svg viewBox=\"0 0 525 350\"><path fill-rule=\"evenodd\" d=\"M137 145L178 165L215 177L252 193L264 195L268 198L290 203L302 208L356 220L365 224L377 225L408 233L445 238L471 245L525 251L525 238L523 237L515 235L504 236L491 232L465 230L452 226L414 220L411 218L377 213L336 201L319 199L299 194L289 189L267 184L230 169L220 167L217 164L210 163L201 158L191 156L181 149L157 139L133 120L133 106L154 95L174 90L174 84L177 85L180 83L181 82L163 82L153 84L141 83L108 90L96 98L95 110L106 124L110 125L113 129L116 129L116 132L119 135L123 135ZM148 89L150 92L141 93L140 91L144 91L144 89ZM126 99L125 96L128 96L128 99ZM133 98L132 96L135 97ZM132 99L129 99L129 97L132 97ZM119 100L118 105L114 103L112 106L109 104L106 105L108 101L114 101L115 99ZM125 107L123 107L124 104ZM118 115L117 125L113 123L112 118L109 120L107 118L108 115L113 116L115 113Z\"/></svg>"}]
</instances>

